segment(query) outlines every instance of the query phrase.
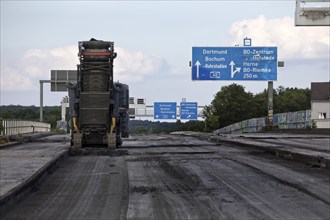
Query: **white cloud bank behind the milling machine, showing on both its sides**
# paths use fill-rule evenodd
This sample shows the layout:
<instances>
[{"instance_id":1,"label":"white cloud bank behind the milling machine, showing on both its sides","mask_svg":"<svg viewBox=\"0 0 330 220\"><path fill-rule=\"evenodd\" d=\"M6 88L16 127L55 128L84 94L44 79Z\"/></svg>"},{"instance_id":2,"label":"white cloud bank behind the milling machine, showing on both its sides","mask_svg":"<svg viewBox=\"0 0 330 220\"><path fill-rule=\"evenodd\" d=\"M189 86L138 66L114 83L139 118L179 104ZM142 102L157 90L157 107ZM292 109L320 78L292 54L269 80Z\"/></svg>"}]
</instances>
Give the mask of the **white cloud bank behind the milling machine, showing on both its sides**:
<instances>
[{"instance_id":1,"label":"white cloud bank behind the milling machine, showing on both its sides","mask_svg":"<svg viewBox=\"0 0 330 220\"><path fill-rule=\"evenodd\" d=\"M145 76L168 69L166 61L158 56L115 48L114 78L124 83L141 82ZM39 80L50 79L50 70L76 69L79 59L77 46L51 49L31 49L17 62L1 65L1 90L37 90Z\"/></svg>"}]
</instances>

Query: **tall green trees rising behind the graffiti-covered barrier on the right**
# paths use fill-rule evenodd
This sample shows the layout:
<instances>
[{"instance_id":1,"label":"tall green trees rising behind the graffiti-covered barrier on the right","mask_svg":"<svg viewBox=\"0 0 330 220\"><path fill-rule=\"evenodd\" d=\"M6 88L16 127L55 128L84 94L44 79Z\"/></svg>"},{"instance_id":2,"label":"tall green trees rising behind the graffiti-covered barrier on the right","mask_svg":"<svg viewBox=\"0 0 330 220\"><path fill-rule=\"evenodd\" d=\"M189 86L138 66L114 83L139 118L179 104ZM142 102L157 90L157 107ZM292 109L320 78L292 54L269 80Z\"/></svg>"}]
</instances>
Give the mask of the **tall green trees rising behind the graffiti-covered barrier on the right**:
<instances>
[{"instance_id":1,"label":"tall green trees rising behind the graffiti-covered barrier on the right","mask_svg":"<svg viewBox=\"0 0 330 220\"><path fill-rule=\"evenodd\" d=\"M311 108L311 90L279 86L273 91L273 105L274 114L308 110ZM267 90L253 94L235 83L223 86L203 112L207 131L246 119L263 117L267 113Z\"/></svg>"}]
</instances>

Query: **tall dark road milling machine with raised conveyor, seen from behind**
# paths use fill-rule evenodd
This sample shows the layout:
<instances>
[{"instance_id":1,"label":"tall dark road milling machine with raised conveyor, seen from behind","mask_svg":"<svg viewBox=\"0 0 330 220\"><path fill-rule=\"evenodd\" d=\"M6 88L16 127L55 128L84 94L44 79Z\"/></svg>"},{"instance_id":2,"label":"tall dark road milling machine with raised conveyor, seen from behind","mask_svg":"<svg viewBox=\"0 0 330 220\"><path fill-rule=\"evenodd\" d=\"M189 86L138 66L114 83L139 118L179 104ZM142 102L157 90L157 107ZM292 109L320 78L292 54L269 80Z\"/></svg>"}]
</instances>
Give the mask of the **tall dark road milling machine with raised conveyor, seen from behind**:
<instances>
[{"instance_id":1,"label":"tall dark road milling machine with raised conveyor, seen from behind","mask_svg":"<svg viewBox=\"0 0 330 220\"><path fill-rule=\"evenodd\" d=\"M68 85L71 148L116 148L128 137L128 85L113 81L114 43L78 42L77 83Z\"/></svg>"}]
</instances>

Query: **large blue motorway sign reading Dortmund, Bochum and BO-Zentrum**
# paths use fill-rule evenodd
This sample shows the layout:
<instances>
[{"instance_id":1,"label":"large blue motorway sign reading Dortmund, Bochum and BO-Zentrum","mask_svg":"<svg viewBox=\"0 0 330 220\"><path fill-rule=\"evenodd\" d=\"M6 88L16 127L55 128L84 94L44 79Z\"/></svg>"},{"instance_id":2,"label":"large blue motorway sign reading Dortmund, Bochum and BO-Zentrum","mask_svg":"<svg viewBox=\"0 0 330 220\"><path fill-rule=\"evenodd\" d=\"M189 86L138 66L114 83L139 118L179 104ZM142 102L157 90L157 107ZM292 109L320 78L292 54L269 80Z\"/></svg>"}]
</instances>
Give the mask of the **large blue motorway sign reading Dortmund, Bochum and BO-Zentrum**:
<instances>
[{"instance_id":1,"label":"large blue motorway sign reading Dortmund, Bochum and BO-Zentrum","mask_svg":"<svg viewBox=\"0 0 330 220\"><path fill-rule=\"evenodd\" d=\"M277 80L277 47L193 47L192 80Z\"/></svg>"}]
</instances>

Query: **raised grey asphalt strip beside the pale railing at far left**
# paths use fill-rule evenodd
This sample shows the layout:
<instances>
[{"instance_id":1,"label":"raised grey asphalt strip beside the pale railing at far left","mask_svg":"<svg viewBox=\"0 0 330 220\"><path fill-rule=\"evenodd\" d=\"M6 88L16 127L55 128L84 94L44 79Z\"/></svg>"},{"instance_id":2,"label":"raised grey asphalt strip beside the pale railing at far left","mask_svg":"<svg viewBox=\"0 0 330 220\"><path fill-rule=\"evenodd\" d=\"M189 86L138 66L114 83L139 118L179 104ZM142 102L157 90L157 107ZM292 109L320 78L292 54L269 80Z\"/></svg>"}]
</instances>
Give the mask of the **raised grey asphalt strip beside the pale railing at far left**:
<instances>
[{"instance_id":1,"label":"raised grey asphalt strip beside the pale railing at far left","mask_svg":"<svg viewBox=\"0 0 330 220\"><path fill-rule=\"evenodd\" d=\"M67 135L57 135L41 138L38 142L1 148L0 200L30 181L38 172L47 169L58 156L67 152L68 141Z\"/></svg>"}]
</instances>

